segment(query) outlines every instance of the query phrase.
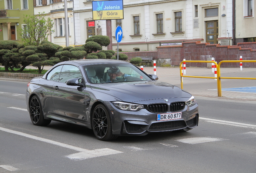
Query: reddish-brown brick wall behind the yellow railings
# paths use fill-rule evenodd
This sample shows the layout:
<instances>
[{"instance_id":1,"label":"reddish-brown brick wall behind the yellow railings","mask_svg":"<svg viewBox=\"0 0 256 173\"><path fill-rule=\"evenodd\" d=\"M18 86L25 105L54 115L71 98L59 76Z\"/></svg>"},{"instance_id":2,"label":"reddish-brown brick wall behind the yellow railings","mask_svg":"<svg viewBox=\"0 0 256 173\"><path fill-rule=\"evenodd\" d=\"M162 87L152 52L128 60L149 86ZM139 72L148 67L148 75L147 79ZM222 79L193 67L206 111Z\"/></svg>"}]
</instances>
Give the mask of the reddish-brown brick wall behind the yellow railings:
<instances>
[{"instance_id":1,"label":"reddish-brown brick wall behind the yellow railings","mask_svg":"<svg viewBox=\"0 0 256 173\"><path fill-rule=\"evenodd\" d=\"M176 46L159 46L157 51L122 52L128 55L128 60L136 56L153 56L153 59L171 59L171 65L180 65L186 60L207 60L214 57L218 63L222 60L256 60L256 42L243 42L234 46L221 46L197 42L183 42ZM206 63L186 63L186 66L206 67ZM239 63L222 63L221 67L239 67ZM243 67L256 67L256 63L243 63Z\"/></svg>"}]
</instances>

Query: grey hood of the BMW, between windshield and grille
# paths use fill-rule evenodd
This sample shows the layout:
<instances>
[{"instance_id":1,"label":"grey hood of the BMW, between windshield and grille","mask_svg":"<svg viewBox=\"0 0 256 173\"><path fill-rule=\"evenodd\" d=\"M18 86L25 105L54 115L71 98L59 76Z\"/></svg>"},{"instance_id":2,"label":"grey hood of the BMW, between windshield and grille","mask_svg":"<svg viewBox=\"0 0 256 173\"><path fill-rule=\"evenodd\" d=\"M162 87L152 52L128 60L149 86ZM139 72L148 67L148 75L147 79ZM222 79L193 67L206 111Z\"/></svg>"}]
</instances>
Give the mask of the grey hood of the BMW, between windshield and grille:
<instances>
[{"instance_id":1,"label":"grey hood of the BMW, between windshield and grille","mask_svg":"<svg viewBox=\"0 0 256 173\"><path fill-rule=\"evenodd\" d=\"M147 82L122 82L91 84L91 89L117 97L126 102L137 102L153 99L190 98L190 93L179 87L157 80Z\"/></svg>"}]
</instances>

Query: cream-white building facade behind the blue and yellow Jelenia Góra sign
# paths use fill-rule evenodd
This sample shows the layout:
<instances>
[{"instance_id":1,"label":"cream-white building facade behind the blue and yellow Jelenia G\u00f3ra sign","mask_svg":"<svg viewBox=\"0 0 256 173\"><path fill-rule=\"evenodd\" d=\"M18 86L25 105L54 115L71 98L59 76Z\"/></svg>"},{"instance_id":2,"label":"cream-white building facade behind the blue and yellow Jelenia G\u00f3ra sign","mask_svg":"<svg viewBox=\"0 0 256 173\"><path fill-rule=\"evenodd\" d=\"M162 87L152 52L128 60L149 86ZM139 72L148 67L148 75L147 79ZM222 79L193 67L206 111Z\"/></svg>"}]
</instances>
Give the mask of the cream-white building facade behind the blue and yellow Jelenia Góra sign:
<instances>
[{"instance_id":1,"label":"cream-white building facade behind the blue and yellow Jelenia G\u00f3ra sign","mask_svg":"<svg viewBox=\"0 0 256 173\"><path fill-rule=\"evenodd\" d=\"M232 0L124 0L123 4L124 19L111 20L113 50L118 25L123 29L120 51L150 51L188 41L232 44ZM92 20L90 0L74 0L73 12L77 45L91 35L107 35L106 20ZM89 26L91 22L95 25Z\"/></svg>"}]
</instances>

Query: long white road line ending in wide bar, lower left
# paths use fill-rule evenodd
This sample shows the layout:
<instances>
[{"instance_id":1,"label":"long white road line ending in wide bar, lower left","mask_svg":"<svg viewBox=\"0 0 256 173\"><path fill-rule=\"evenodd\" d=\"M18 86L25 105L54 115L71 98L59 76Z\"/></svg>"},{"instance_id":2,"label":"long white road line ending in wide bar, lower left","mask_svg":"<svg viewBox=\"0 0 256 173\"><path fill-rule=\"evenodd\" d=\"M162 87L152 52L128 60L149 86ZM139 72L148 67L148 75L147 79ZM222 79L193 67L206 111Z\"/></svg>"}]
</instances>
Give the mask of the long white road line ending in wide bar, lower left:
<instances>
[{"instance_id":1,"label":"long white road line ending in wide bar, lower left","mask_svg":"<svg viewBox=\"0 0 256 173\"><path fill-rule=\"evenodd\" d=\"M72 149L72 150L79 151L79 152L83 153L83 154L77 154L76 153L77 155L76 154L72 154L72 155L66 156L66 157L68 157L70 159L73 159L73 160L82 160L82 159L89 159L89 158L92 158L92 157L99 157L99 156L103 156L103 155L111 155L111 154L123 153L121 151L112 150L112 149L108 149L108 148L96 149L96 150L87 150L87 149L83 149L83 148L79 148L79 147L74 147L72 145L68 145L68 144L52 141L50 139L44 139L44 138L41 138L41 137L36 137L36 136L33 136L33 135L29 135L27 133L22 133L22 132L19 132L19 131L14 131L14 130L6 129L6 128L3 128L3 127L0 127L0 130L8 132L8 133L13 133L15 135L20 135L20 136L23 136L23 137L35 139L37 141L42 141L42 142L45 142L45 143L50 143L50 144L53 144L53 145L58 145L60 147Z\"/></svg>"}]
</instances>

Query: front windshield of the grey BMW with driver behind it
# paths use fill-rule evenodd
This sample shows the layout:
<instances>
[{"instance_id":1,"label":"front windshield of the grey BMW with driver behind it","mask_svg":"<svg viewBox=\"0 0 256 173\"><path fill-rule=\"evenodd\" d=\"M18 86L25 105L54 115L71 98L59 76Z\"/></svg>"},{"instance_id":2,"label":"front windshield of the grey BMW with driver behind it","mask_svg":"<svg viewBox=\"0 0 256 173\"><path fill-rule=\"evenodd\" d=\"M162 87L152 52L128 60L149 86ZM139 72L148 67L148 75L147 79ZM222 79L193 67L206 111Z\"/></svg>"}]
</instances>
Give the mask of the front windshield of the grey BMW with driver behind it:
<instances>
[{"instance_id":1,"label":"front windshield of the grey BMW with driver behind it","mask_svg":"<svg viewBox=\"0 0 256 173\"><path fill-rule=\"evenodd\" d=\"M84 66L91 83L131 82L152 80L147 74L132 64L110 63Z\"/></svg>"}]
</instances>

